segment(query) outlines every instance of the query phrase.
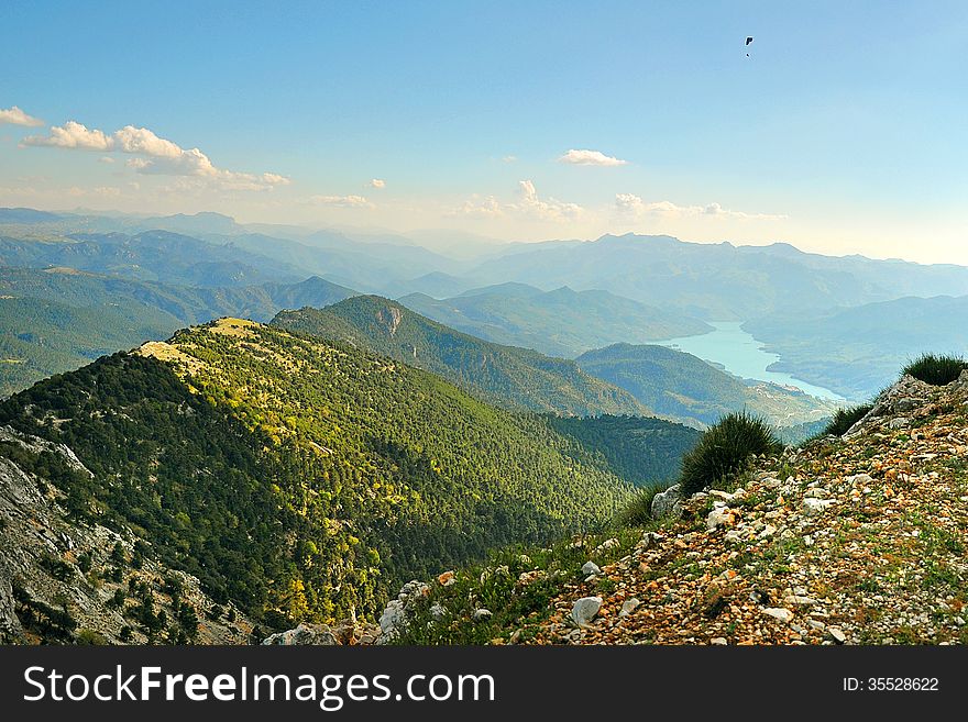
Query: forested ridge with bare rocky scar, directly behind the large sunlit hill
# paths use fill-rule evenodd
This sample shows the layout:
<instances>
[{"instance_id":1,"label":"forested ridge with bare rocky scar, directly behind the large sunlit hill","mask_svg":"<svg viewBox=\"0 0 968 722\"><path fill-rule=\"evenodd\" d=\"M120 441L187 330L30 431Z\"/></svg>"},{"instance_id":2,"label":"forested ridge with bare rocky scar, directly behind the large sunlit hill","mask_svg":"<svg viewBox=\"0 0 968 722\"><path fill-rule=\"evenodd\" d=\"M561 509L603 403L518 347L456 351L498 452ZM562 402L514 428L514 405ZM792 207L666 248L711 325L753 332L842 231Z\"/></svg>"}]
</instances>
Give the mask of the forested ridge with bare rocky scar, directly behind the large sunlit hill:
<instances>
[{"instance_id":1,"label":"forested ridge with bare rocky scar, directly behind the large sunlit hill","mask_svg":"<svg viewBox=\"0 0 968 722\"><path fill-rule=\"evenodd\" d=\"M272 323L369 348L503 406L572 415L649 413L628 391L585 374L574 362L488 343L376 296L283 311Z\"/></svg>"}]
</instances>

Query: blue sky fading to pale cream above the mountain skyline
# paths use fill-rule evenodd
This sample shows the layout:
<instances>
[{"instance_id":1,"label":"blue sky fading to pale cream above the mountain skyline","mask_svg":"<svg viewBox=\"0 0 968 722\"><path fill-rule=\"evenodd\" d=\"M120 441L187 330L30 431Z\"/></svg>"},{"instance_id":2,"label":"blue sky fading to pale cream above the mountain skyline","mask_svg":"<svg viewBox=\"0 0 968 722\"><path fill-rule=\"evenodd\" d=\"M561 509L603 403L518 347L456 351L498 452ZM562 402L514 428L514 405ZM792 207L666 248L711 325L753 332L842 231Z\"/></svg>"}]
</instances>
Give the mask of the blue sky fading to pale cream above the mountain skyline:
<instances>
[{"instance_id":1,"label":"blue sky fading to pale cream above the mountain skyline","mask_svg":"<svg viewBox=\"0 0 968 722\"><path fill-rule=\"evenodd\" d=\"M0 204L968 263L966 57L964 2L7 2Z\"/></svg>"}]
</instances>

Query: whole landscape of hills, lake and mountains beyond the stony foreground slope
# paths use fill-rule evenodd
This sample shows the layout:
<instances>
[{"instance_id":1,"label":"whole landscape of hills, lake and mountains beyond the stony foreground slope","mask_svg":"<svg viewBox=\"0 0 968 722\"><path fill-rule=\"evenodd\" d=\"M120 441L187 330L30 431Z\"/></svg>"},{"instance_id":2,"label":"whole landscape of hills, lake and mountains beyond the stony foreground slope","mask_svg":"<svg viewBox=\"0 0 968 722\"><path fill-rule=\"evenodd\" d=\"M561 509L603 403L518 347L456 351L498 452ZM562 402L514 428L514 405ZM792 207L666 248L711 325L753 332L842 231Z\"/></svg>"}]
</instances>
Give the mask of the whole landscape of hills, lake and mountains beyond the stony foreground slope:
<instances>
[{"instance_id":1,"label":"whole landscape of hills, lake and mountains beyond the stony foreground slope","mask_svg":"<svg viewBox=\"0 0 968 722\"><path fill-rule=\"evenodd\" d=\"M625 544L722 419L800 444L968 343L959 267L28 211L0 212L7 642L392 641L408 580ZM963 296L892 297L933 290Z\"/></svg>"}]
</instances>

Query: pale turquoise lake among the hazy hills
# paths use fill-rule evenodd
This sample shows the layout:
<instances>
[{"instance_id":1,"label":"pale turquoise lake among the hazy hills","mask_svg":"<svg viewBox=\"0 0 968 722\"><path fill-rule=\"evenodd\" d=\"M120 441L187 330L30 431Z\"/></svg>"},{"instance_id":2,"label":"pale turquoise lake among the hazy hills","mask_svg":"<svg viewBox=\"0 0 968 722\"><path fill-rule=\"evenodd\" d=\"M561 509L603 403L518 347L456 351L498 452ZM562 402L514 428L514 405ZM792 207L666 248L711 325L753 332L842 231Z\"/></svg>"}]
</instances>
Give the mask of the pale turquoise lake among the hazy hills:
<instances>
[{"instance_id":1,"label":"pale turquoise lake among the hazy hills","mask_svg":"<svg viewBox=\"0 0 968 722\"><path fill-rule=\"evenodd\" d=\"M703 360L719 364L730 374L743 378L770 381L781 386L795 386L802 391L822 399L844 400L844 397L829 389L801 381L790 374L768 371L767 367L779 360L780 356L763 351L762 344L740 329L738 321L711 321L710 325L715 331L701 336L684 336L657 343L684 351Z\"/></svg>"}]
</instances>

